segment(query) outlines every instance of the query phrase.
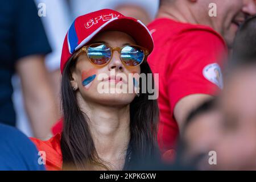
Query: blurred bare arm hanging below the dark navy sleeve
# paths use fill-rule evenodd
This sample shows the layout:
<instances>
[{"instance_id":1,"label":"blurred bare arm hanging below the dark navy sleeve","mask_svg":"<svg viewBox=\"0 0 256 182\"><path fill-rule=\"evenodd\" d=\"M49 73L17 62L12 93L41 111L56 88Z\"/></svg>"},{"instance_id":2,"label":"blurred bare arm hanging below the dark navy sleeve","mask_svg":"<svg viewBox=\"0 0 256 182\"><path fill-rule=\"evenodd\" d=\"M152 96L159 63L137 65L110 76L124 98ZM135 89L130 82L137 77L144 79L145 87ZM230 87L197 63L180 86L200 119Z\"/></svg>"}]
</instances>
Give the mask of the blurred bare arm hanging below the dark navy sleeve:
<instances>
[{"instance_id":1,"label":"blurred bare arm hanging below the dark navy sleeve","mask_svg":"<svg viewBox=\"0 0 256 182\"><path fill-rule=\"evenodd\" d=\"M15 66L22 83L24 105L34 135L37 138L46 138L53 123L57 121L57 107L44 56L23 57Z\"/></svg>"}]
</instances>

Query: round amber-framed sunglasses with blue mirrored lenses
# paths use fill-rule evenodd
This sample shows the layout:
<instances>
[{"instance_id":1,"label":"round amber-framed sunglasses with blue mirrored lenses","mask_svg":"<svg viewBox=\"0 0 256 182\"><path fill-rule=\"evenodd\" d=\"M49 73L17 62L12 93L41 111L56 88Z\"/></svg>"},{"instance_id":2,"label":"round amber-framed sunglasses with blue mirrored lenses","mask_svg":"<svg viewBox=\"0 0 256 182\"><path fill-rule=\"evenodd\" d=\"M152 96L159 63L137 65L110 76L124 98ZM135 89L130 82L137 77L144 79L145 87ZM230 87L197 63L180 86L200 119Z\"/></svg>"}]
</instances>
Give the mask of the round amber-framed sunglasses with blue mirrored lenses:
<instances>
[{"instance_id":1,"label":"round amber-framed sunglasses with blue mirrored lenses","mask_svg":"<svg viewBox=\"0 0 256 182\"><path fill-rule=\"evenodd\" d=\"M148 56L148 50L137 45L126 45L120 47L110 47L103 43L94 43L82 47L73 57L76 59L82 52L86 55L92 64L106 65L112 59L113 52L118 51L120 60L128 67L137 67L141 65Z\"/></svg>"}]
</instances>

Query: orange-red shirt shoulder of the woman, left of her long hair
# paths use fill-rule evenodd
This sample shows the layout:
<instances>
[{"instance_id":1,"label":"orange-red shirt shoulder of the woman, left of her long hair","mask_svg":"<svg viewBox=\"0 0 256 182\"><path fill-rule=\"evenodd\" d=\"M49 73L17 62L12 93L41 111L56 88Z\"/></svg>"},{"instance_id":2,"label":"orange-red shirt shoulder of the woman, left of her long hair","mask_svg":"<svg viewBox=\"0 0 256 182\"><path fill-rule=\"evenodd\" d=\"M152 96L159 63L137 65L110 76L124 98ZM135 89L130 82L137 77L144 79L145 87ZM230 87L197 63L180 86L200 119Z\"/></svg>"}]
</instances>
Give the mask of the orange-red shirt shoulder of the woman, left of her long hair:
<instances>
[{"instance_id":1,"label":"orange-red shirt shoulder of the woman, left of her long hair","mask_svg":"<svg viewBox=\"0 0 256 182\"><path fill-rule=\"evenodd\" d=\"M61 170L62 154L60 148L61 134L57 133L49 140L40 140L37 138L30 138L40 152L42 158L46 160L47 170Z\"/></svg>"}]
</instances>

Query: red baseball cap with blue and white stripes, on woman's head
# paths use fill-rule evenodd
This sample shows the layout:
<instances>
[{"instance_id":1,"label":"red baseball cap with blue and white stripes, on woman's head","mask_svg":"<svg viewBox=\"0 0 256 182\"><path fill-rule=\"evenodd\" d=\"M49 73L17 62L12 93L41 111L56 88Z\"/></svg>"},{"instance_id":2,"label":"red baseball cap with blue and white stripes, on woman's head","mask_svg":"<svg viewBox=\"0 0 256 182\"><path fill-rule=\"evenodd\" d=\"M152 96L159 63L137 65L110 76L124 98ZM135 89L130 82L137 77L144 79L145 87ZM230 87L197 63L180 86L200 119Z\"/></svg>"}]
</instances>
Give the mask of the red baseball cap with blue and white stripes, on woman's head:
<instances>
[{"instance_id":1,"label":"red baseball cap with blue and white stripes, on woman's head","mask_svg":"<svg viewBox=\"0 0 256 182\"><path fill-rule=\"evenodd\" d=\"M140 20L124 16L110 9L94 11L77 17L69 28L61 53L61 73L73 53L85 46L98 33L107 30L129 34L139 46L147 48L149 53L154 48L152 36Z\"/></svg>"}]
</instances>

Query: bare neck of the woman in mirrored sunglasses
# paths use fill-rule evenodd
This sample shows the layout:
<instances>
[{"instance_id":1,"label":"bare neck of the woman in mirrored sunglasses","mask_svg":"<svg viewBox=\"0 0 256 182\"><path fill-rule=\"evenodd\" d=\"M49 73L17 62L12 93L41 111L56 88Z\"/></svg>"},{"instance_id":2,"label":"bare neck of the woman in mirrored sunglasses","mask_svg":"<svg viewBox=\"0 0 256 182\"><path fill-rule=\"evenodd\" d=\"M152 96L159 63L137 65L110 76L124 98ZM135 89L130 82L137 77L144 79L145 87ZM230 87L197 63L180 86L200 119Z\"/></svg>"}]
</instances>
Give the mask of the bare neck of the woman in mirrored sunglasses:
<instances>
[{"instance_id":1,"label":"bare neck of the woman in mirrored sunglasses","mask_svg":"<svg viewBox=\"0 0 256 182\"><path fill-rule=\"evenodd\" d=\"M129 105L80 104L82 111L89 117L88 125L98 156L112 164L110 169L122 169L130 142Z\"/></svg>"}]
</instances>

